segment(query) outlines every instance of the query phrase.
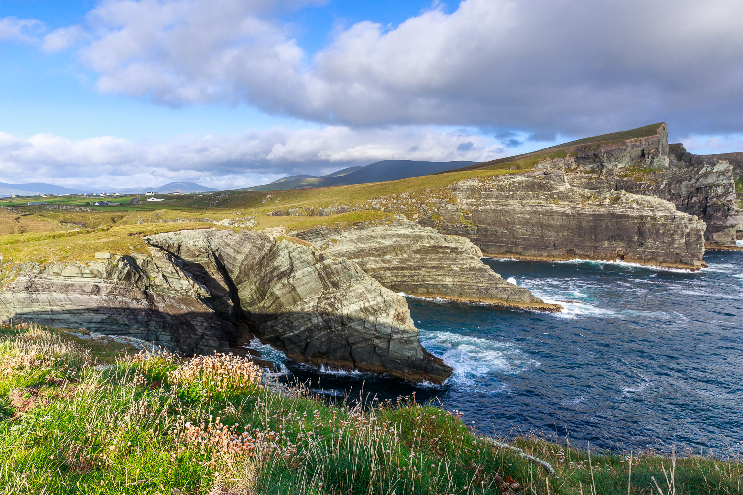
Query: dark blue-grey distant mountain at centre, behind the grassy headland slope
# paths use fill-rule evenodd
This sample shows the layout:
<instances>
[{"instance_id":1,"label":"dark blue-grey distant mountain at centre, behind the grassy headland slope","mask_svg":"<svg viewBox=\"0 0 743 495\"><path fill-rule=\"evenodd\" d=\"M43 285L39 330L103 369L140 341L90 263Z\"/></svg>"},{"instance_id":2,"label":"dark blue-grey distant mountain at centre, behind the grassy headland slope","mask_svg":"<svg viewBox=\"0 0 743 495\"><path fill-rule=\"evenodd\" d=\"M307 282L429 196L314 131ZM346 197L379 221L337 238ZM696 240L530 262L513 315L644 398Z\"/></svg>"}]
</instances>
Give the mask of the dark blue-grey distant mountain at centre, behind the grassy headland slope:
<instances>
[{"instance_id":1,"label":"dark blue-grey distant mountain at centre, behind the grassy headland slope","mask_svg":"<svg viewBox=\"0 0 743 495\"><path fill-rule=\"evenodd\" d=\"M385 160L371 163L366 167L349 167L322 177L294 175L274 180L270 184L247 187L244 191L279 191L285 189L307 189L325 186L345 186L348 184L365 184L386 182L388 180L407 179L430 175L452 168L473 165L476 162L414 162L412 160Z\"/></svg>"}]
</instances>

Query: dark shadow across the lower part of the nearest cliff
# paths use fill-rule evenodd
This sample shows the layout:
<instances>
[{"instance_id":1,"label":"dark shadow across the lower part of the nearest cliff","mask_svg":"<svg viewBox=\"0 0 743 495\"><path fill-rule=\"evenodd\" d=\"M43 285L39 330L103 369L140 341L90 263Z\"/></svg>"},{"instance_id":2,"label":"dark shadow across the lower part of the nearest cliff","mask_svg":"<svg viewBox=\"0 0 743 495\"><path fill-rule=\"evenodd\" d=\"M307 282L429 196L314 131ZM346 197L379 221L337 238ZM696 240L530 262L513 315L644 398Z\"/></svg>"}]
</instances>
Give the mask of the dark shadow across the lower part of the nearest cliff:
<instances>
[{"instance_id":1,"label":"dark shadow across the lower part of the nearest cliff","mask_svg":"<svg viewBox=\"0 0 743 495\"><path fill-rule=\"evenodd\" d=\"M241 312L240 316L241 321L233 323L211 311L170 313L99 306L19 312L13 320L139 338L184 356L230 352L230 346L253 335L292 361L311 366L389 373L405 380L433 383L441 383L452 373L444 361L424 350L417 335L396 337L391 331L363 336L363 329L377 326L375 321L348 321L343 315L305 312Z\"/></svg>"}]
</instances>

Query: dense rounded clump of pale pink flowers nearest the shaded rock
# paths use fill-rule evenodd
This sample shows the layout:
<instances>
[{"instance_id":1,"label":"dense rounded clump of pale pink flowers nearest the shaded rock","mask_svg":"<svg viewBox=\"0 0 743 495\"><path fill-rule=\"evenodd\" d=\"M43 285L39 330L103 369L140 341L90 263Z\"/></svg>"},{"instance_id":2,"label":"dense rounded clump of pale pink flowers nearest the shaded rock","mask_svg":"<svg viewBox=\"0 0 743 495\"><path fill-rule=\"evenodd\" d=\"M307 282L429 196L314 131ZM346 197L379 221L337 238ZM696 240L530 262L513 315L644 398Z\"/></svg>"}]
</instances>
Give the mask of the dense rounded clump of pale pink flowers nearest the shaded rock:
<instances>
[{"instance_id":1,"label":"dense rounded clump of pale pink flowers nearest the shaded rock","mask_svg":"<svg viewBox=\"0 0 743 495\"><path fill-rule=\"evenodd\" d=\"M233 354L200 355L168 373L174 384L196 387L206 396L224 391L249 392L261 383L261 369Z\"/></svg>"}]
</instances>

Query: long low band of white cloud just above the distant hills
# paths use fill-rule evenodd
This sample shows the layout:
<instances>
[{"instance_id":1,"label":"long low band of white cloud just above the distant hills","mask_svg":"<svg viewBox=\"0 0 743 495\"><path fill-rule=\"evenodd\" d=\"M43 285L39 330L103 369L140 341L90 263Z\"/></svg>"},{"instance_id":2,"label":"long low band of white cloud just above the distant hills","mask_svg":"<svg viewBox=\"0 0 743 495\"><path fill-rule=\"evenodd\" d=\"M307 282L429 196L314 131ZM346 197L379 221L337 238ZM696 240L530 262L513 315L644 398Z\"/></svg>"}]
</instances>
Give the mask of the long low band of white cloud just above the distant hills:
<instances>
[{"instance_id":1,"label":"long low band of white cloud just above the distant hills","mask_svg":"<svg viewBox=\"0 0 743 495\"><path fill-rule=\"evenodd\" d=\"M115 183L125 187L193 180L232 189L285 175L323 175L392 157L484 161L502 156L506 151L498 142L476 133L417 126L328 126L299 131L274 127L169 142L133 142L111 136L71 140L53 134L24 139L0 132L0 181L64 185L87 177L91 186Z\"/></svg>"}]
</instances>

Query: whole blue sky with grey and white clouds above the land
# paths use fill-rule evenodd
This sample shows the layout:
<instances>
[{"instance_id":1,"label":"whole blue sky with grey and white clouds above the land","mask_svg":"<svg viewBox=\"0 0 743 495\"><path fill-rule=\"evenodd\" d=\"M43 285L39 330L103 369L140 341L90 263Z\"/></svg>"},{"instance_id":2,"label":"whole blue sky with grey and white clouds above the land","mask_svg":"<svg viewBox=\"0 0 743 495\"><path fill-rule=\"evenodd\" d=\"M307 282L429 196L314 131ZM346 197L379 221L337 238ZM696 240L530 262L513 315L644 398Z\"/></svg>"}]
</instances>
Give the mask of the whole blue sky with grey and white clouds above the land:
<instances>
[{"instance_id":1,"label":"whole blue sky with grey and white clouds above the land","mask_svg":"<svg viewBox=\"0 0 743 495\"><path fill-rule=\"evenodd\" d=\"M743 151L740 0L0 0L0 182L237 189L668 122Z\"/></svg>"}]
</instances>

